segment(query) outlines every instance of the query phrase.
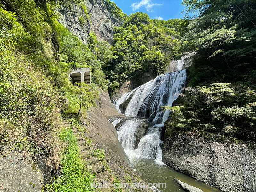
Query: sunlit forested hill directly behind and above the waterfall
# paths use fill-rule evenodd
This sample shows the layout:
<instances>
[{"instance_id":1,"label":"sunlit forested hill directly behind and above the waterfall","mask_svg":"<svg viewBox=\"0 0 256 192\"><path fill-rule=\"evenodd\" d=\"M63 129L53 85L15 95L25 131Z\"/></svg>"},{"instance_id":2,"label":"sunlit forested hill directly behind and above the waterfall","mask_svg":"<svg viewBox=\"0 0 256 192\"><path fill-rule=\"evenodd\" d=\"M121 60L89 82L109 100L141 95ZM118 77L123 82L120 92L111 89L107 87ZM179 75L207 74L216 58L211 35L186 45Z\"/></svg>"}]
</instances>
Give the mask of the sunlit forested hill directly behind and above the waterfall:
<instances>
[{"instance_id":1,"label":"sunlit forested hill directly behind and above the waterfall","mask_svg":"<svg viewBox=\"0 0 256 192\"><path fill-rule=\"evenodd\" d=\"M174 57L180 41L175 37L181 19L160 21L150 20L146 13L132 13L121 27L115 27L110 59L102 66L110 80L110 93L114 93L127 78L134 80L136 86L142 84L145 72L157 76L164 72ZM181 31L181 30L180 30ZM184 33L184 32L183 32Z\"/></svg>"}]
</instances>

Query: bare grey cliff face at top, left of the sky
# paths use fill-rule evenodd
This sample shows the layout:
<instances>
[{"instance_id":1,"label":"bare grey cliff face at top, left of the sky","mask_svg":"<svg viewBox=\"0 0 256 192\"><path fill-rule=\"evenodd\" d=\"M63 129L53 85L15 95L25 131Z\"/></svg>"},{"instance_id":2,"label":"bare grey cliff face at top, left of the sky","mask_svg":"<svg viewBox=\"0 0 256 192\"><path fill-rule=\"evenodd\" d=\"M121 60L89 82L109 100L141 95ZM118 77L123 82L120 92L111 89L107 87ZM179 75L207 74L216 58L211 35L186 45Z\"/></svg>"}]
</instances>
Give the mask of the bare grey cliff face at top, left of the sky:
<instances>
[{"instance_id":1,"label":"bare grey cliff face at top, left of the sky","mask_svg":"<svg viewBox=\"0 0 256 192\"><path fill-rule=\"evenodd\" d=\"M90 19L84 13L80 5L71 3L66 6L62 4L58 8L60 19L58 20L68 30L87 44L90 32L94 32L98 40L107 41L109 44L113 41L114 26L119 26L120 21L112 15L102 0L89 0L85 2L87 13ZM79 18L84 18L81 23Z\"/></svg>"}]
</instances>

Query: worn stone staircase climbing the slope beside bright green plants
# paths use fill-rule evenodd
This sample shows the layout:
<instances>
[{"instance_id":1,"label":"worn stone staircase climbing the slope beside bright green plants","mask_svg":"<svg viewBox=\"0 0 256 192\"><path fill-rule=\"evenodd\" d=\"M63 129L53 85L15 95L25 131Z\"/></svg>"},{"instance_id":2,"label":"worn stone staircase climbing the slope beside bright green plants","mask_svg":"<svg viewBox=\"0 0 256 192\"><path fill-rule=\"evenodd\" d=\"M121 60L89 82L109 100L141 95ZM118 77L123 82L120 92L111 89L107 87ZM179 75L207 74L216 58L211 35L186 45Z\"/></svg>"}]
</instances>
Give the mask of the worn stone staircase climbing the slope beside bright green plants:
<instances>
[{"instance_id":1,"label":"worn stone staircase climbing the slope beside bright green plants","mask_svg":"<svg viewBox=\"0 0 256 192\"><path fill-rule=\"evenodd\" d=\"M69 124L72 127L72 124ZM109 181L111 178L110 173L105 170L104 165L94 156L94 150L92 146L88 145L86 139L83 137L84 133L78 129L71 129L76 136L77 145L80 149L79 156L85 164L86 168L91 174L95 174L94 182L100 185L104 181ZM101 189L101 191L111 191L110 189Z\"/></svg>"}]
</instances>

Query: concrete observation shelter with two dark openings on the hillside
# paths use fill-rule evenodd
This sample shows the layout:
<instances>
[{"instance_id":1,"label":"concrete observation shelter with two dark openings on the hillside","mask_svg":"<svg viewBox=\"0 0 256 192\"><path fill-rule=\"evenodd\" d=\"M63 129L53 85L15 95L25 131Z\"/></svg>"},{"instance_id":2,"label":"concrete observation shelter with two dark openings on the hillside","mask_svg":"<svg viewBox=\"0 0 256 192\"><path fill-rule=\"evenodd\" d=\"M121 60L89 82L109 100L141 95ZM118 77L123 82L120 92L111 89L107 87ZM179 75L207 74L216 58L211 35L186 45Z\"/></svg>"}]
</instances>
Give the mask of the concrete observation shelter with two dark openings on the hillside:
<instances>
[{"instance_id":1,"label":"concrete observation shelter with two dark openings on the hillside","mask_svg":"<svg viewBox=\"0 0 256 192\"><path fill-rule=\"evenodd\" d=\"M77 86L75 83L85 82L86 84L90 84L91 82L91 68L89 67L81 67L81 68L73 68L69 73L70 81L74 86Z\"/></svg>"}]
</instances>

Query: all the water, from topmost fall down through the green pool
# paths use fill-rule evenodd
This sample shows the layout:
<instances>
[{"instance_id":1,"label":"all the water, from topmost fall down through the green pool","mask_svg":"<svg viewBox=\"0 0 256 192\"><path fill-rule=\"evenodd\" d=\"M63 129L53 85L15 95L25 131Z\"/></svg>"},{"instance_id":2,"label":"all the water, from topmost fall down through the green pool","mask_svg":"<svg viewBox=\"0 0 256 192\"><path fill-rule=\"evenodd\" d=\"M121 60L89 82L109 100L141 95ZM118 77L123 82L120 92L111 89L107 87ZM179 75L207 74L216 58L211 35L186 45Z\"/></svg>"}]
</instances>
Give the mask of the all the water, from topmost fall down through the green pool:
<instances>
[{"instance_id":1,"label":"all the water, from topmost fall down through the green pool","mask_svg":"<svg viewBox=\"0 0 256 192\"><path fill-rule=\"evenodd\" d=\"M166 189L158 188L163 192L185 192L173 181L174 178L179 178L205 192L215 192L216 190L172 170L162 162L164 142L161 140L161 132L170 113L168 110L163 111L162 106L171 106L185 85L187 75L182 70L183 63L183 60L178 61L178 71L157 76L114 100L117 110L126 116L109 121L117 130L118 140L129 157L131 166L144 181L167 183ZM145 122L148 127L145 127ZM154 192L159 192L158 189L152 188Z\"/></svg>"}]
</instances>

